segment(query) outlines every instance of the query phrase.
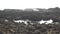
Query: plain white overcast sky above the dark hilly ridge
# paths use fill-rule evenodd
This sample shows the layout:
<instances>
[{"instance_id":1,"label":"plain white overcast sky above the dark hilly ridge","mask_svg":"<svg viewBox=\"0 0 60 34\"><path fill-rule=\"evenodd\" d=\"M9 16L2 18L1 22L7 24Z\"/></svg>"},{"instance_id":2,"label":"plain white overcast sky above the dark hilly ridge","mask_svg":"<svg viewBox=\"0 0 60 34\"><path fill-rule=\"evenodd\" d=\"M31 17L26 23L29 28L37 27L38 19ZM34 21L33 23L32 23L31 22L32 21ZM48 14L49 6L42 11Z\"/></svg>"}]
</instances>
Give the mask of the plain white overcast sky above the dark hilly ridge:
<instances>
[{"instance_id":1,"label":"plain white overcast sky above the dark hilly ridge","mask_svg":"<svg viewBox=\"0 0 60 34\"><path fill-rule=\"evenodd\" d=\"M0 0L0 10L60 7L60 0Z\"/></svg>"}]
</instances>

